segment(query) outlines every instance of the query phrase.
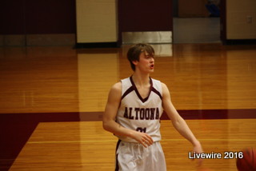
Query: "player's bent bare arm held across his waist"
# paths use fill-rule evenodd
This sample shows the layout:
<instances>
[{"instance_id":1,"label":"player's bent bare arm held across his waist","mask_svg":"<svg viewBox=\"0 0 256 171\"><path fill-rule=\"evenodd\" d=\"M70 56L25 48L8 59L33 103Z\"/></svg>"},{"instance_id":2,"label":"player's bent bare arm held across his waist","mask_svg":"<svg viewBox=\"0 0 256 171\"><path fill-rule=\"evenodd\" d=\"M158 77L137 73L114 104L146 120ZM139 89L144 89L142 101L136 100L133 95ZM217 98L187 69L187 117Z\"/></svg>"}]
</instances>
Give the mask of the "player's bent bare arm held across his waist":
<instances>
[{"instance_id":1,"label":"player's bent bare arm held across his waist","mask_svg":"<svg viewBox=\"0 0 256 171\"><path fill-rule=\"evenodd\" d=\"M148 134L126 129L115 121L121 97L122 83L118 82L110 89L109 97L106 102L105 113L103 114L103 128L110 133L114 133L115 135L134 138L136 141L142 143L142 145L145 147L146 145L151 145L153 140Z\"/></svg>"}]
</instances>

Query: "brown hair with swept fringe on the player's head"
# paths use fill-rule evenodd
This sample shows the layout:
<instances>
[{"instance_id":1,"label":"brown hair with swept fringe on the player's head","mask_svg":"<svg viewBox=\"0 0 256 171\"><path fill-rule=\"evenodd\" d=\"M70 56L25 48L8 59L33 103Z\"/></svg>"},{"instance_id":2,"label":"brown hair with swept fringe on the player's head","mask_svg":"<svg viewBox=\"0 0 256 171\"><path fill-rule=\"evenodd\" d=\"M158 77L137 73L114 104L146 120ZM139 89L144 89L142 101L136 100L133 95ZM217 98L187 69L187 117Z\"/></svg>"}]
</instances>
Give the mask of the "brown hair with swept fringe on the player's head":
<instances>
[{"instance_id":1,"label":"brown hair with swept fringe on the player's head","mask_svg":"<svg viewBox=\"0 0 256 171\"><path fill-rule=\"evenodd\" d=\"M138 43L134 46L131 46L127 52L127 58L130 62L130 67L132 70L135 70L134 61L139 61L139 56L142 53L147 52L150 56L154 56L154 49L149 44Z\"/></svg>"}]
</instances>

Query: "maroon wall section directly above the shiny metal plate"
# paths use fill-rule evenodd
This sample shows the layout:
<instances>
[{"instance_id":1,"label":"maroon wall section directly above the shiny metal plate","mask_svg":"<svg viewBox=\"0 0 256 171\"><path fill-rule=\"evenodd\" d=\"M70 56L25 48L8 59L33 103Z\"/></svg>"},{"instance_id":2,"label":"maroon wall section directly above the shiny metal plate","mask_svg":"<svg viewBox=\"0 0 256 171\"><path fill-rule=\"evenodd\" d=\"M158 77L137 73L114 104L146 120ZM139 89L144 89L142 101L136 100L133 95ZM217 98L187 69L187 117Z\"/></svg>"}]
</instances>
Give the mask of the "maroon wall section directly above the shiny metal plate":
<instances>
[{"instance_id":1,"label":"maroon wall section directly above the shiny metal plate","mask_svg":"<svg viewBox=\"0 0 256 171\"><path fill-rule=\"evenodd\" d=\"M121 32L170 31L172 0L119 0L118 22Z\"/></svg>"}]
</instances>

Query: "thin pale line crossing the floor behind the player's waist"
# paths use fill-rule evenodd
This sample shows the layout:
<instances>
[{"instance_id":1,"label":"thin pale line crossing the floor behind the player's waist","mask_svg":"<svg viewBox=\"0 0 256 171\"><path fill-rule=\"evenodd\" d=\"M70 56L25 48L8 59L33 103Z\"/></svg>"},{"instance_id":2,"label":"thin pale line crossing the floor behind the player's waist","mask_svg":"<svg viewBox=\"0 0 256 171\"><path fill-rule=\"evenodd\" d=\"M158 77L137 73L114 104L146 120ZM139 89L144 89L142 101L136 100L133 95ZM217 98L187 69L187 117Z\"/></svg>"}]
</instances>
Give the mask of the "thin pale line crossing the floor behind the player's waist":
<instances>
[{"instance_id":1,"label":"thin pale line crossing the floor behind the player's waist","mask_svg":"<svg viewBox=\"0 0 256 171\"><path fill-rule=\"evenodd\" d=\"M199 141L256 141L256 139L198 139ZM54 144L54 143L91 143L117 142L118 140L86 140L86 141L27 141L27 144ZM162 139L162 141L187 141L184 139Z\"/></svg>"}]
</instances>

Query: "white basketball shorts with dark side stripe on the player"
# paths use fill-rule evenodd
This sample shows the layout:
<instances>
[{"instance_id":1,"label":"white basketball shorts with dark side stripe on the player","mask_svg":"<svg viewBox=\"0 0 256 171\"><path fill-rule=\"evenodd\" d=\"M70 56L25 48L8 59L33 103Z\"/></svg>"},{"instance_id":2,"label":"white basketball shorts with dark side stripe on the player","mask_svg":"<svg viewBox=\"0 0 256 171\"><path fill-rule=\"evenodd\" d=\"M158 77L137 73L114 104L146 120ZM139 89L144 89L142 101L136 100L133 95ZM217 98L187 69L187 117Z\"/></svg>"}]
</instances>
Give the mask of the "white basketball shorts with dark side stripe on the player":
<instances>
[{"instance_id":1,"label":"white basketball shorts with dark side stripe on the player","mask_svg":"<svg viewBox=\"0 0 256 171\"><path fill-rule=\"evenodd\" d=\"M166 171L166 159L159 141L145 148L142 144L118 141L116 171Z\"/></svg>"}]
</instances>

